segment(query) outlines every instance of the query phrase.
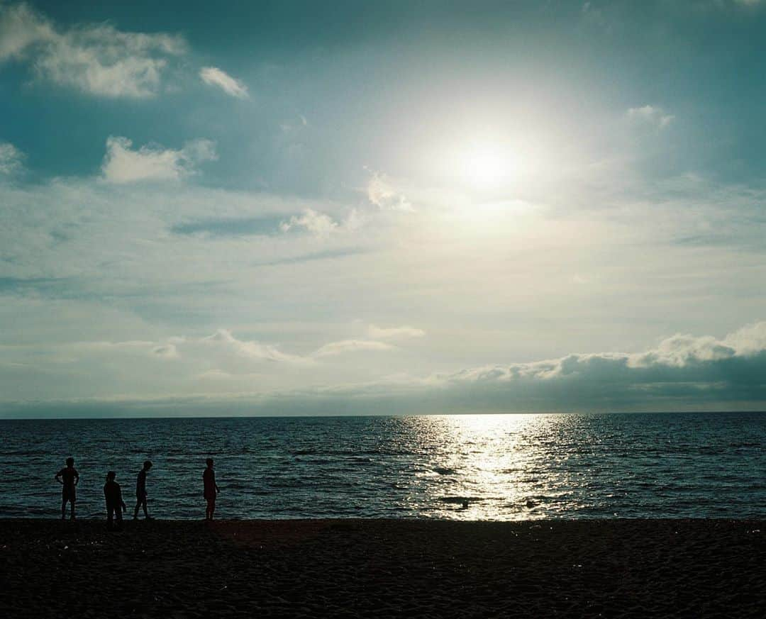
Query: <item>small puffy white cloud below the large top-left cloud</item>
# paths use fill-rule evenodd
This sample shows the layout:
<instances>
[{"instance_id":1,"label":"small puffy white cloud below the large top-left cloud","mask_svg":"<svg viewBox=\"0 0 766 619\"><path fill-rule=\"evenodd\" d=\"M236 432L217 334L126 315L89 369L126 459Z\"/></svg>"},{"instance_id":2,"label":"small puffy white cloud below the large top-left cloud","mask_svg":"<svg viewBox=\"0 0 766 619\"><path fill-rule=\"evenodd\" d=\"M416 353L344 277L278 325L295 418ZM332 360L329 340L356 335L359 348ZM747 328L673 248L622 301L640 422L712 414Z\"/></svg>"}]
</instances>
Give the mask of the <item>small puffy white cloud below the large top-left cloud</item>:
<instances>
[{"instance_id":1,"label":"small puffy white cloud below the large top-left cloud","mask_svg":"<svg viewBox=\"0 0 766 619\"><path fill-rule=\"evenodd\" d=\"M106 139L106 155L101 165L107 182L123 184L138 181L178 181L195 173L201 162L218 159L215 142L197 139L186 142L182 149L142 146L131 149L133 142L125 137Z\"/></svg>"}]
</instances>

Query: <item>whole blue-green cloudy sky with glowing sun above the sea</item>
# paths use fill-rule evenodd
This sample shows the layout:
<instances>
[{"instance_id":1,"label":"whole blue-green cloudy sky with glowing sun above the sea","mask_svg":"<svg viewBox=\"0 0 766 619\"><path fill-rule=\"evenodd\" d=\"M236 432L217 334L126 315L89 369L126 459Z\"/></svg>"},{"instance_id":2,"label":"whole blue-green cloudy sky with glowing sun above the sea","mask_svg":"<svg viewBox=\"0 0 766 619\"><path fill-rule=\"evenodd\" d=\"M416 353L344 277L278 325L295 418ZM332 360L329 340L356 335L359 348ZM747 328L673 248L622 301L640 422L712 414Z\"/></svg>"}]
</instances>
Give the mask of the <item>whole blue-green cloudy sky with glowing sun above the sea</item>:
<instances>
[{"instance_id":1,"label":"whole blue-green cloudy sky with glowing sun above the sea","mask_svg":"<svg viewBox=\"0 0 766 619\"><path fill-rule=\"evenodd\" d=\"M0 417L766 410L766 2L0 0Z\"/></svg>"}]
</instances>

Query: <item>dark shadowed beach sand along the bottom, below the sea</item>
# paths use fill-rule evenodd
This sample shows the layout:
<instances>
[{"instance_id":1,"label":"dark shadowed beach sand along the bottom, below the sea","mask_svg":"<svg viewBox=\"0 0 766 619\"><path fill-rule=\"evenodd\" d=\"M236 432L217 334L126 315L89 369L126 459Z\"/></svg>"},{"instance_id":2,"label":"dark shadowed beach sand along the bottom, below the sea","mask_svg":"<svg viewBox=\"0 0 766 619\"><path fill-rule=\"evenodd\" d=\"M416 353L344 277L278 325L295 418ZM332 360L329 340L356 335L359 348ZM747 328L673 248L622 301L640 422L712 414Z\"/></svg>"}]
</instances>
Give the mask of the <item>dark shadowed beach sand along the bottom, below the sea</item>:
<instances>
[{"instance_id":1,"label":"dark shadowed beach sand along the bottom, below the sea","mask_svg":"<svg viewBox=\"0 0 766 619\"><path fill-rule=\"evenodd\" d=\"M0 520L0 615L760 619L764 525Z\"/></svg>"}]
</instances>

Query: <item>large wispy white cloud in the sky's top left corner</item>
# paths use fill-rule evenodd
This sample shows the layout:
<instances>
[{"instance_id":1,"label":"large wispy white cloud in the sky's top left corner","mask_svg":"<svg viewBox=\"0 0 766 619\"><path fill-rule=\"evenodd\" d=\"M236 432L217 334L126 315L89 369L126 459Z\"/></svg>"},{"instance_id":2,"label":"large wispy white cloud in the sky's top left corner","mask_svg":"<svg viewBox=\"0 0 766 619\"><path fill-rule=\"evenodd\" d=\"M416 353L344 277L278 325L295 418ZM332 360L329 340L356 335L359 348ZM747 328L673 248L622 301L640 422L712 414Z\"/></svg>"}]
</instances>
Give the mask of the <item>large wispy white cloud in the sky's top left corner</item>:
<instances>
[{"instance_id":1,"label":"large wispy white cloud in the sky's top left corner","mask_svg":"<svg viewBox=\"0 0 766 619\"><path fill-rule=\"evenodd\" d=\"M169 61L186 51L178 35L104 24L59 31L26 4L0 6L0 63L31 64L41 79L101 97L154 96Z\"/></svg>"}]
</instances>

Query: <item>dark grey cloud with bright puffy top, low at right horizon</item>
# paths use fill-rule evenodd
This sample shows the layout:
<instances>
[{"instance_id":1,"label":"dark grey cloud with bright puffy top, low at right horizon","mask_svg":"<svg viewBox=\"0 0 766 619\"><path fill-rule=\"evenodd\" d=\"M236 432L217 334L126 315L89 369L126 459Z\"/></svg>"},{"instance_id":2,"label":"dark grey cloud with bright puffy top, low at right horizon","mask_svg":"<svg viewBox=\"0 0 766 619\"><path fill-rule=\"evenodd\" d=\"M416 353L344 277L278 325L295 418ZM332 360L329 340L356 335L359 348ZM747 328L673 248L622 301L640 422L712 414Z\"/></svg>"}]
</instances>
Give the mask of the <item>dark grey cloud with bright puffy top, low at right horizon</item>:
<instances>
[{"instance_id":1,"label":"dark grey cloud with bright puffy top, low at right horizon","mask_svg":"<svg viewBox=\"0 0 766 619\"><path fill-rule=\"evenodd\" d=\"M437 377L447 388L488 388L512 409L538 401L550 410L588 407L659 410L766 398L766 323L724 339L675 335L646 352L571 354L548 361L487 365ZM529 406L529 404L527 404Z\"/></svg>"}]
</instances>

